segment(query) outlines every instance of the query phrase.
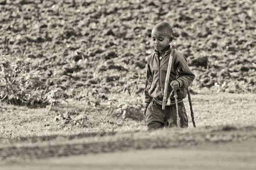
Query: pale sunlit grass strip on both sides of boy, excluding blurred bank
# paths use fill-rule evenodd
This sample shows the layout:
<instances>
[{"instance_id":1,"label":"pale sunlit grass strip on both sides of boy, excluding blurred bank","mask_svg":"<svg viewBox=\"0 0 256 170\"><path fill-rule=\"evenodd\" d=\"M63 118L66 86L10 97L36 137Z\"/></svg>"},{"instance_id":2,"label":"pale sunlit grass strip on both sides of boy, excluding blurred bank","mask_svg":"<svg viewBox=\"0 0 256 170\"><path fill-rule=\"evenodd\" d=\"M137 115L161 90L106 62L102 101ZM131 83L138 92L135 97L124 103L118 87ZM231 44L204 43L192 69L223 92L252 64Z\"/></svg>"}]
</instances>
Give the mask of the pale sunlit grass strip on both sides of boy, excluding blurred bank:
<instances>
[{"instance_id":1,"label":"pale sunlit grass strip on both sides of boy, excluding blurred bank","mask_svg":"<svg viewBox=\"0 0 256 170\"><path fill-rule=\"evenodd\" d=\"M113 96L115 98L116 96ZM120 100L121 101L121 100ZM256 94L193 94L192 104L197 127L218 125L255 125ZM136 102L143 103L143 98ZM121 102L116 102L116 105ZM188 116L190 115L187 98L184 100ZM73 119L83 115L87 120L82 125L55 122L58 114L67 111ZM68 136L85 132L113 132L146 130L144 121L122 119L122 116L107 115L106 105L87 106L87 102L70 100L67 104L49 108L30 109L12 105L1 105L0 136L6 139L23 140L20 137L31 136ZM143 112L142 112L143 113ZM192 126L189 116L189 128ZM88 133L88 134L89 134ZM51 138L51 137L50 137ZM55 137L52 137L53 139ZM34 139L32 139L33 141Z\"/></svg>"}]
</instances>

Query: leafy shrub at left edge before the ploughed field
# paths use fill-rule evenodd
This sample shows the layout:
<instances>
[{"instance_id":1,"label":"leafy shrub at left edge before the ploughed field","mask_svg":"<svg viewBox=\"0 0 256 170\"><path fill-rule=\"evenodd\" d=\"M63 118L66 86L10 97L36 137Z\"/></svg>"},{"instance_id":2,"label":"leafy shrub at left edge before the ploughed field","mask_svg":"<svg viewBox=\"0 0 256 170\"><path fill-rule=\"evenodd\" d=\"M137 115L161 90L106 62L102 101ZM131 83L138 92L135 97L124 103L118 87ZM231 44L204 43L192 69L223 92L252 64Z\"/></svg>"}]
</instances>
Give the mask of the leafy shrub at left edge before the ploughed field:
<instances>
[{"instance_id":1,"label":"leafy shrub at left edge before the ploughed field","mask_svg":"<svg viewBox=\"0 0 256 170\"><path fill-rule=\"evenodd\" d=\"M55 91L45 86L44 76L31 69L29 58L3 55L0 60L0 101L13 105L47 105Z\"/></svg>"}]
</instances>

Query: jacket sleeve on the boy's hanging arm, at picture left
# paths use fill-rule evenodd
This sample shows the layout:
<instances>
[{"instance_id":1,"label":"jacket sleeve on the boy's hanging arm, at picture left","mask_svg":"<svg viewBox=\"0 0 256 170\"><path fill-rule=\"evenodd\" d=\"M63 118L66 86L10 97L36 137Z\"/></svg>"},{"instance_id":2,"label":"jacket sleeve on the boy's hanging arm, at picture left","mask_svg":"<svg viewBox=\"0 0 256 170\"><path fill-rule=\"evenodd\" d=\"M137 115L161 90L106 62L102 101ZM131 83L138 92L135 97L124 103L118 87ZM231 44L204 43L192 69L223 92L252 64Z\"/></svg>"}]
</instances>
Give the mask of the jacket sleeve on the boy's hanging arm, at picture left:
<instances>
[{"instance_id":1,"label":"jacket sleeve on the boy's hanging arm, at picture left","mask_svg":"<svg viewBox=\"0 0 256 170\"><path fill-rule=\"evenodd\" d=\"M152 83L152 73L150 70L149 65L147 64L146 66L146 79L145 79L145 90L144 90L144 94L145 94L145 108L148 108L149 103L151 102L151 100L153 99L151 96L149 96L148 91L151 87L151 83Z\"/></svg>"}]
</instances>

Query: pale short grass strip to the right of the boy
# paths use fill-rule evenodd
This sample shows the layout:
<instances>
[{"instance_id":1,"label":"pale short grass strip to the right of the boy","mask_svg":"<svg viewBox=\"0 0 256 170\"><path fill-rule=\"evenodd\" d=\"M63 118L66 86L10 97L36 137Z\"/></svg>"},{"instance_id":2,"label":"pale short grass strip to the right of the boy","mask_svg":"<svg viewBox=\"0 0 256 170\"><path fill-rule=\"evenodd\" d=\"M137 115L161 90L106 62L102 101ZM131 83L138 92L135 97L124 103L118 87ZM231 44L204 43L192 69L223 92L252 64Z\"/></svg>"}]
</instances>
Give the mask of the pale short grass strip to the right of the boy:
<instances>
[{"instance_id":1,"label":"pale short grass strip to the right of the boy","mask_svg":"<svg viewBox=\"0 0 256 170\"><path fill-rule=\"evenodd\" d=\"M195 122L200 126L255 125L256 94L192 95ZM185 100L187 112L189 105ZM190 126L191 128L192 126Z\"/></svg>"}]
</instances>

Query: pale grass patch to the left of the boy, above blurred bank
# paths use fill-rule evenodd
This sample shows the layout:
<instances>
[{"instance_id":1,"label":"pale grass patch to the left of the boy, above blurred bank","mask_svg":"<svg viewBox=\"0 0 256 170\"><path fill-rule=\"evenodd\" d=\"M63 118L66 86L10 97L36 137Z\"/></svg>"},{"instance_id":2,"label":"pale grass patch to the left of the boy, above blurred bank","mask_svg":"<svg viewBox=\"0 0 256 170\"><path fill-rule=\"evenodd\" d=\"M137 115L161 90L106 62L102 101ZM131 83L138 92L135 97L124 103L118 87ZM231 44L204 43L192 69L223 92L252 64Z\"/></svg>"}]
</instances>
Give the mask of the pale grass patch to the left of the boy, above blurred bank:
<instances>
[{"instance_id":1,"label":"pale grass patch to the left of the boy, above blurred bank","mask_svg":"<svg viewBox=\"0 0 256 170\"><path fill-rule=\"evenodd\" d=\"M116 103L116 105L121 102ZM115 106L113 110L115 110ZM122 119L122 114L106 115L109 108L102 105L88 105L87 102L70 100L65 104L47 108L26 108L1 104L0 141L30 136L74 135L84 132L112 132L145 129L144 121ZM59 114L70 116L71 120L55 121ZM142 113L141 113L142 114ZM75 124L77 119L83 119ZM144 126L144 127L143 127Z\"/></svg>"}]
</instances>

